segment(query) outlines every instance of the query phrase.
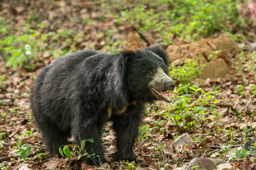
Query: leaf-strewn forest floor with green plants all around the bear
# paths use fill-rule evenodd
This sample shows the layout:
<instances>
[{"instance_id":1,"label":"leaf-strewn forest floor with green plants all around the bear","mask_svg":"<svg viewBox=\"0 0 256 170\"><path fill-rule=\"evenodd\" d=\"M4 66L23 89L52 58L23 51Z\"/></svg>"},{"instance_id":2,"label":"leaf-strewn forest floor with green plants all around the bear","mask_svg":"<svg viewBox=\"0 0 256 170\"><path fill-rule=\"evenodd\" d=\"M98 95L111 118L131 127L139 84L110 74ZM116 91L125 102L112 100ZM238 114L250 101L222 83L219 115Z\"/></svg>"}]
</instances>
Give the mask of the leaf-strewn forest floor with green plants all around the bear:
<instances>
[{"instance_id":1,"label":"leaf-strewn forest floor with green plants all around the bear","mask_svg":"<svg viewBox=\"0 0 256 170\"><path fill-rule=\"evenodd\" d=\"M255 42L252 21L240 18L237 6L242 4L235 4L237 1L145 1L138 6L132 2L1 4L1 169L95 169L79 160L81 155L74 148L82 146L63 146L65 159L50 157L33 123L31 84L41 68L56 57L86 48L122 50L130 26L164 45L176 38L196 40L225 33L240 42ZM230 4L225 6L224 2ZM159 3L164 4L162 8L156 8ZM135 14L138 16L132 18ZM220 16L223 18L218 19ZM255 52L242 52L232 59L236 70L232 77L206 80L196 78L201 72L196 61L187 60L183 66L170 64L171 78L181 82L176 86L174 102L157 101L147 106L134 146L139 162L110 162L111 168L174 169L193 157L214 157L225 159L234 169L255 169L255 59ZM108 161L115 143L111 126L105 126L102 136ZM193 138L193 147L174 147L173 141L186 132Z\"/></svg>"}]
</instances>

